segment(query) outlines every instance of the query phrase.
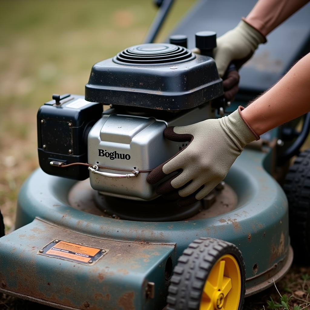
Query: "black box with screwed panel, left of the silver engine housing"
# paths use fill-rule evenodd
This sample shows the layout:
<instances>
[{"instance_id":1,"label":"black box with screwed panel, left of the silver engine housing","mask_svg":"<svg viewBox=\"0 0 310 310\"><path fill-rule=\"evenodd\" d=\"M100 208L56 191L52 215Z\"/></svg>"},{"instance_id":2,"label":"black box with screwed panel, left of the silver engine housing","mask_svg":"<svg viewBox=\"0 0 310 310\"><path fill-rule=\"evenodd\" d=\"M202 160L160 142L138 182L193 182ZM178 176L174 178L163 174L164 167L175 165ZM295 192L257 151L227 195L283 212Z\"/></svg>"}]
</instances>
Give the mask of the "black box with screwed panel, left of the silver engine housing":
<instances>
[{"instance_id":1,"label":"black box with screwed panel, left of the silver engine housing","mask_svg":"<svg viewBox=\"0 0 310 310\"><path fill-rule=\"evenodd\" d=\"M87 136L101 117L103 106L81 95L53 95L37 114L38 155L42 170L75 180L89 177L87 167L64 165L87 163Z\"/></svg>"}]
</instances>

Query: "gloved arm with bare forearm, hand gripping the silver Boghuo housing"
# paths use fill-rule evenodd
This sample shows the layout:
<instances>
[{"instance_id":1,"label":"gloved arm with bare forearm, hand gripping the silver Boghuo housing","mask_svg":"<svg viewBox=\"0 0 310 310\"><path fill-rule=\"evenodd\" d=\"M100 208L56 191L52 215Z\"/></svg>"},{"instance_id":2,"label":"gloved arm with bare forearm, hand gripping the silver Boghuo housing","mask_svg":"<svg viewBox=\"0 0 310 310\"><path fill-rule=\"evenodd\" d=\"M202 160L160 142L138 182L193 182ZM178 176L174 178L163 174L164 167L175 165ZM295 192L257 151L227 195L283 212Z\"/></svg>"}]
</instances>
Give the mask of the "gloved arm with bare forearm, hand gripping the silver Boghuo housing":
<instances>
[{"instance_id":1,"label":"gloved arm with bare forearm, hand gripping the silver Boghuo housing","mask_svg":"<svg viewBox=\"0 0 310 310\"><path fill-rule=\"evenodd\" d=\"M299 60L270 90L245 109L229 116L197 124L168 127L164 135L172 141L190 141L175 157L156 167L150 184L170 179L157 193L179 206L205 197L222 181L246 144L284 122L310 111L310 54ZM175 174L175 172L178 172Z\"/></svg>"}]
</instances>

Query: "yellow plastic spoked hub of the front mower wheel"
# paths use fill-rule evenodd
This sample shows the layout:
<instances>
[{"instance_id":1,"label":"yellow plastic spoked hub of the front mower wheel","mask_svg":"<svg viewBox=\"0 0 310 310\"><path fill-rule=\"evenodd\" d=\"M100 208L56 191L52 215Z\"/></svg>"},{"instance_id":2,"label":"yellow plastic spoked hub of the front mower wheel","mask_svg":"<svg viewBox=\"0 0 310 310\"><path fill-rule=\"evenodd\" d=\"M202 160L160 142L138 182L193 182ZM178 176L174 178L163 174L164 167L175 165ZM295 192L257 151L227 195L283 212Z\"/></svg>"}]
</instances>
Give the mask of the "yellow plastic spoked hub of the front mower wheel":
<instances>
[{"instance_id":1,"label":"yellow plastic spoked hub of the front mower wheel","mask_svg":"<svg viewBox=\"0 0 310 310\"><path fill-rule=\"evenodd\" d=\"M199 310L237 310L241 273L237 260L223 255L212 267L203 288Z\"/></svg>"}]
</instances>

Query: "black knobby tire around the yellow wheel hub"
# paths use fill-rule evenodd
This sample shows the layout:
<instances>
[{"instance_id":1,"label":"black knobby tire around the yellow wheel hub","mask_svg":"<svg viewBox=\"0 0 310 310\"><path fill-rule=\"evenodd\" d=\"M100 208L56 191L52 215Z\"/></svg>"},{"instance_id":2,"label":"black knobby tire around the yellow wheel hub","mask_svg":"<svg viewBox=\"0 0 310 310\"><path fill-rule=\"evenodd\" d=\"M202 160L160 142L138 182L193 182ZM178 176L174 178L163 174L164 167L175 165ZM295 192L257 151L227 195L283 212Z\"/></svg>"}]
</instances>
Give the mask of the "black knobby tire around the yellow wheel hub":
<instances>
[{"instance_id":1,"label":"black knobby tire around the yellow wheel hub","mask_svg":"<svg viewBox=\"0 0 310 310\"><path fill-rule=\"evenodd\" d=\"M201 237L189 244L179 257L170 279L167 296L167 310L198 310L206 278L214 263L224 254L232 254L241 267L241 302L245 294L245 264L241 252L232 243Z\"/></svg>"}]
</instances>

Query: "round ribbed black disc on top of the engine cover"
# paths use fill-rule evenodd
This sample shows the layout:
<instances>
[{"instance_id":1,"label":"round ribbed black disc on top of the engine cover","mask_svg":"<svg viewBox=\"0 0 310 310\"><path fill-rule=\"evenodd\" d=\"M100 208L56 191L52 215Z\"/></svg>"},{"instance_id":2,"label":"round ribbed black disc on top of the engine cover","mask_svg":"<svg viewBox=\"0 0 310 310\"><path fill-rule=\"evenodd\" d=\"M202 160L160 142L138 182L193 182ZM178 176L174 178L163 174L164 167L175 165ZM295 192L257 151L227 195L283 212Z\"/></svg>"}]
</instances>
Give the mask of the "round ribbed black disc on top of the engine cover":
<instances>
[{"instance_id":1,"label":"round ribbed black disc on top of the engine cover","mask_svg":"<svg viewBox=\"0 0 310 310\"><path fill-rule=\"evenodd\" d=\"M160 65L180 63L195 58L194 54L185 47L174 44L140 44L118 53L113 61L119 64Z\"/></svg>"}]
</instances>

